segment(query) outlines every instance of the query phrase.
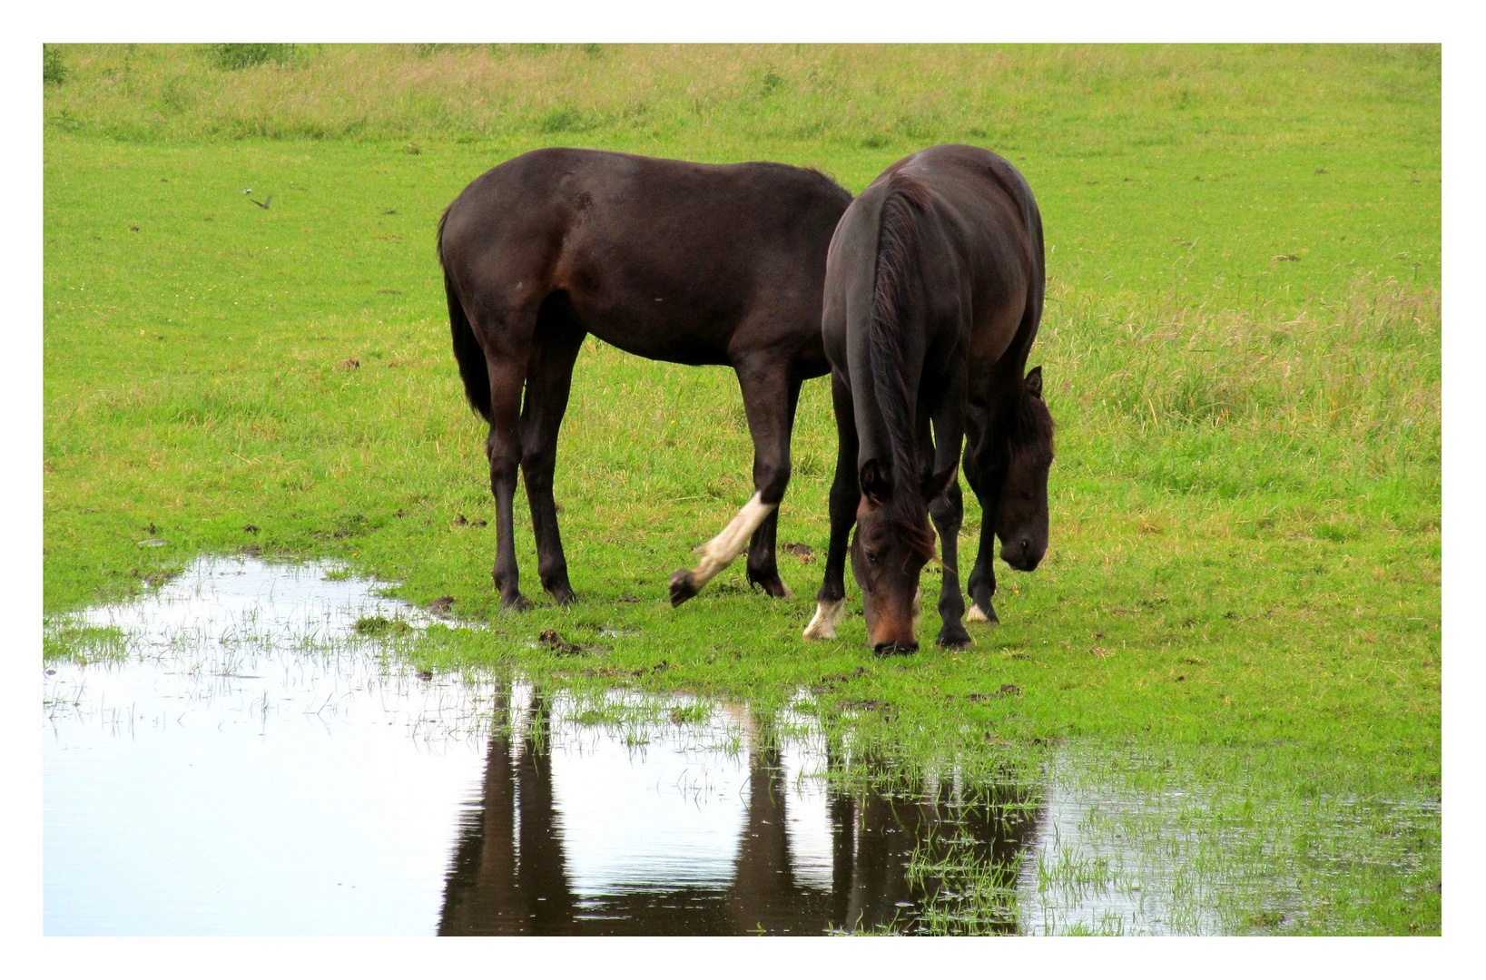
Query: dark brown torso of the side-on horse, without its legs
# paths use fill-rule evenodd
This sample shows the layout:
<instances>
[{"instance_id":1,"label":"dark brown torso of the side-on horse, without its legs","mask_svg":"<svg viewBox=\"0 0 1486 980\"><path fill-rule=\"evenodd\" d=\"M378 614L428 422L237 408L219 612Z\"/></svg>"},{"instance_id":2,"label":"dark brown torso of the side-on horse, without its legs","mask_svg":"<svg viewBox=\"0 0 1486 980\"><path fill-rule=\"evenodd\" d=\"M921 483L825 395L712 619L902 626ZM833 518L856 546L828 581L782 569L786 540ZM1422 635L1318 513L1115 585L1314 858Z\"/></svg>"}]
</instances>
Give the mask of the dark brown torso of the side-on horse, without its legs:
<instances>
[{"instance_id":1,"label":"dark brown torso of the side-on horse, without its legs","mask_svg":"<svg viewBox=\"0 0 1486 980\"><path fill-rule=\"evenodd\" d=\"M758 324L747 343L808 359L850 199L783 163L533 150L450 205L441 254L462 264L465 291L560 291L585 330L640 356L728 362L739 327Z\"/></svg>"}]
</instances>

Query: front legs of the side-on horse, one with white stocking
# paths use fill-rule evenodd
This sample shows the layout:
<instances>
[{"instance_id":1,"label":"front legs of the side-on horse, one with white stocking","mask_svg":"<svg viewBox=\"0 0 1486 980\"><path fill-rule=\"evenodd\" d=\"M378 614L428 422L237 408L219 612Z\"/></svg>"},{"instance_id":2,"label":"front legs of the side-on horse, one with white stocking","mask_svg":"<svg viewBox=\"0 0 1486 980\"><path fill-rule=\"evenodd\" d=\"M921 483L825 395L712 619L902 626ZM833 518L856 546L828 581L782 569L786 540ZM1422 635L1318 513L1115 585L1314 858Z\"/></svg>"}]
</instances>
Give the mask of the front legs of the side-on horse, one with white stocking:
<instances>
[{"instance_id":1,"label":"front legs of the side-on horse, one with white stocking","mask_svg":"<svg viewBox=\"0 0 1486 980\"><path fill-rule=\"evenodd\" d=\"M753 486L755 493L743 509L722 529L716 538L698 548L700 561L694 569L676 569L670 576L670 604L681 606L701 591L718 572L733 564L743 545L755 530L779 508L789 484L789 422L791 379L788 364L749 364L737 367L739 386L743 389L743 410L747 413L749 432L753 435ZM798 393L798 385L794 386ZM768 548L767 560L773 563L774 549ZM762 584L771 595L785 597L788 591L773 570L773 585Z\"/></svg>"}]
</instances>

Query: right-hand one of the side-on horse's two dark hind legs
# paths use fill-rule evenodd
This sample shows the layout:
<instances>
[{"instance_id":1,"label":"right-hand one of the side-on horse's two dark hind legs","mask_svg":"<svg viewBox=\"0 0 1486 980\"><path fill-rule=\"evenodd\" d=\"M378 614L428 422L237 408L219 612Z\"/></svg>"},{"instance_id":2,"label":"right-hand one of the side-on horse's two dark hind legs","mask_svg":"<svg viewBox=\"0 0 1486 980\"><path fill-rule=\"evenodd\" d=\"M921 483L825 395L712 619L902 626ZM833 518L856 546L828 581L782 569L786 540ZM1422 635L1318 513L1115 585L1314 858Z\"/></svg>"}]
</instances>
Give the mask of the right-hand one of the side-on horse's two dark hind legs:
<instances>
[{"instance_id":1,"label":"right-hand one of the side-on horse's two dark hind legs","mask_svg":"<svg viewBox=\"0 0 1486 980\"><path fill-rule=\"evenodd\" d=\"M568 560L557 533L553 471L557 468L557 429L568 410L572 364L583 347L583 328L562 316L539 316L536 343L526 368L526 404L522 407L522 480L532 508L536 536L536 575L560 606L577 597L568 582Z\"/></svg>"}]
</instances>

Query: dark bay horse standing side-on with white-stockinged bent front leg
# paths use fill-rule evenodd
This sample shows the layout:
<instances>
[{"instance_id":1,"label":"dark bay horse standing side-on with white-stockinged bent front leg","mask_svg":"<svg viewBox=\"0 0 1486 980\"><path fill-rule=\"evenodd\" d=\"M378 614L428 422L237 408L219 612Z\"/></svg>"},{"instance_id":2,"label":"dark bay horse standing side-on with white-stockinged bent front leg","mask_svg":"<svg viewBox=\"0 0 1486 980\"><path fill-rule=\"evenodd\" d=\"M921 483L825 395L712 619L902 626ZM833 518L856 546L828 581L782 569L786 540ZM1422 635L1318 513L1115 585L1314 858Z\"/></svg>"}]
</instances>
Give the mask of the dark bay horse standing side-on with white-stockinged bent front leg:
<instances>
[{"instance_id":1,"label":"dark bay horse standing side-on with white-stockinged bent front leg","mask_svg":"<svg viewBox=\"0 0 1486 980\"><path fill-rule=\"evenodd\" d=\"M672 604L744 543L749 582L788 595L774 560L777 508L799 385L829 370L820 288L850 202L823 174L783 163L547 148L487 171L449 205L438 260L465 395L490 423L501 609L526 607L513 539L517 469L542 588L574 601L553 472L572 365L590 333L642 358L728 365L743 389L755 493L700 548L697 567L672 575Z\"/></svg>"}]
</instances>

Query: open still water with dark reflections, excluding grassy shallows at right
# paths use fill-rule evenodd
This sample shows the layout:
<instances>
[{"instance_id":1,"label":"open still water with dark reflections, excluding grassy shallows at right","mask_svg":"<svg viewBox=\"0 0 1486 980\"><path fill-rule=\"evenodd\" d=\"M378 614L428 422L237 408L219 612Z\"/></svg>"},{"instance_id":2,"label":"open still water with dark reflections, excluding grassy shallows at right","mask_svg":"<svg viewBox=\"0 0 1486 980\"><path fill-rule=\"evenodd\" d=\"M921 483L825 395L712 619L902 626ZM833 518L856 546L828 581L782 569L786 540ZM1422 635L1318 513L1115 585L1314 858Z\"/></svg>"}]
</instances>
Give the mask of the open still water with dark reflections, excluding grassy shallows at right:
<instances>
[{"instance_id":1,"label":"open still water with dark reflections, excluding grassy shallows at right","mask_svg":"<svg viewBox=\"0 0 1486 980\"><path fill-rule=\"evenodd\" d=\"M419 677L355 638L424 619L374 585L202 560L80 618L128 641L48 664L49 934L912 931L954 898L909 882L915 846L1028 842L1031 814L953 780L831 793L823 742L742 708L646 722L617 693L594 725L562 692Z\"/></svg>"}]
</instances>

